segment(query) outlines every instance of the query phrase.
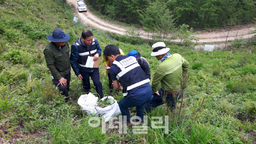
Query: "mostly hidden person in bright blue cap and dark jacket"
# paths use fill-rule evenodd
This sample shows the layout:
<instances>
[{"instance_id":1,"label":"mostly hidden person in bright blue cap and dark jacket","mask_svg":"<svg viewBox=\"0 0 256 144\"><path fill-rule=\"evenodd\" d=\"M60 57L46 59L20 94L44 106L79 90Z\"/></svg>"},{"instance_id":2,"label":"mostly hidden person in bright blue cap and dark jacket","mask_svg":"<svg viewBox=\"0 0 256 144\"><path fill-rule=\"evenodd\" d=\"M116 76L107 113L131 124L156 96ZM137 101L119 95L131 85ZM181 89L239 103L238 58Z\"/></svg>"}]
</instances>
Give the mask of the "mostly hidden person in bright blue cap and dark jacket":
<instances>
[{"instance_id":1,"label":"mostly hidden person in bright blue cap and dark jacket","mask_svg":"<svg viewBox=\"0 0 256 144\"><path fill-rule=\"evenodd\" d=\"M137 52L136 50L131 50L128 54L126 54L128 56L134 56L138 62L138 64L140 65L140 67L143 69L143 71L145 72L147 78L151 78L151 74L150 74L150 67L148 65L148 62L146 61L146 59L144 57L141 57L141 54L139 52Z\"/></svg>"}]
</instances>

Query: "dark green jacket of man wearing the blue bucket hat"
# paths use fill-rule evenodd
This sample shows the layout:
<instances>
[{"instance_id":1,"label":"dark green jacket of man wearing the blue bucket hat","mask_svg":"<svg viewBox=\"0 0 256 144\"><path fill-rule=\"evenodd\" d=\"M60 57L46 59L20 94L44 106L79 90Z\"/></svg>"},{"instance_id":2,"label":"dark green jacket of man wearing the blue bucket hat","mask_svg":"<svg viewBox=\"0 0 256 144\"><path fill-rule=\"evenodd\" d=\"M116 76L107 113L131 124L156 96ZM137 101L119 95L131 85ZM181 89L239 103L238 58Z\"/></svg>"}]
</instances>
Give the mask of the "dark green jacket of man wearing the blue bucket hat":
<instances>
[{"instance_id":1,"label":"dark green jacket of man wearing the blue bucket hat","mask_svg":"<svg viewBox=\"0 0 256 144\"><path fill-rule=\"evenodd\" d=\"M62 76L70 72L69 45L65 41L65 46L58 49L53 42L46 45L43 50L47 67L50 69L51 75L60 79Z\"/></svg>"}]
</instances>

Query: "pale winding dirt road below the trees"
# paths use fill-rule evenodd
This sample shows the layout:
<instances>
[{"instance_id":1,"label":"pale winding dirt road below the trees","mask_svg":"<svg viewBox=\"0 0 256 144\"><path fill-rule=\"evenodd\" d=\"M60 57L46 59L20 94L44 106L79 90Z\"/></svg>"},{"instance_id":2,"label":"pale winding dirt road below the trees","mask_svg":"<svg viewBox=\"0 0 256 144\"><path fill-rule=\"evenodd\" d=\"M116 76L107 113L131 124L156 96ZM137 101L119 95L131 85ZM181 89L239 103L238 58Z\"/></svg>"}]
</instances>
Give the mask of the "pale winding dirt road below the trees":
<instances>
[{"instance_id":1,"label":"pale winding dirt road below the trees","mask_svg":"<svg viewBox=\"0 0 256 144\"><path fill-rule=\"evenodd\" d=\"M82 21L83 24L87 26L93 26L102 30L107 30L110 32L115 32L119 34L124 34L125 29L127 27L120 26L104 19L101 19L95 15L87 8L87 12L78 12L77 10L77 0L67 0L68 3L72 3L75 6L74 15L78 15L78 18ZM216 41L225 41L227 34L227 40L234 40L235 38L249 38L254 34L250 34L250 30L255 30L254 25L242 25L238 28L233 28L231 30L217 30L217 31L202 31L201 33L195 34L195 36L199 37L198 42L216 42ZM237 31L238 29L238 31ZM147 32L141 29L137 29L140 31L140 37L147 38ZM151 37L152 33L149 33L149 37Z\"/></svg>"}]
</instances>

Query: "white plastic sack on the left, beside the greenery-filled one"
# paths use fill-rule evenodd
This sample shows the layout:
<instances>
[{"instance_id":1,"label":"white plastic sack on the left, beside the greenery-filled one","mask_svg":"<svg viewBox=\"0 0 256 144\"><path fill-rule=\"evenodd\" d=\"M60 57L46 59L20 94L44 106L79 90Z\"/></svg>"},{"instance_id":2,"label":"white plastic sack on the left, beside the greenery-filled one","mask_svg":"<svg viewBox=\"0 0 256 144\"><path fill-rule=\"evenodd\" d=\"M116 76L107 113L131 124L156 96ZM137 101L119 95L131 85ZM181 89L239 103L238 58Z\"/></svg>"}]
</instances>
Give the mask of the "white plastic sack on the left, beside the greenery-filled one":
<instances>
[{"instance_id":1,"label":"white plastic sack on the left, beside the greenery-filled one","mask_svg":"<svg viewBox=\"0 0 256 144\"><path fill-rule=\"evenodd\" d=\"M97 110L95 109L97 99L98 97L94 96L92 93L89 92L88 94L81 95L78 98L77 103L88 115L97 114Z\"/></svg>"}]
</instances>

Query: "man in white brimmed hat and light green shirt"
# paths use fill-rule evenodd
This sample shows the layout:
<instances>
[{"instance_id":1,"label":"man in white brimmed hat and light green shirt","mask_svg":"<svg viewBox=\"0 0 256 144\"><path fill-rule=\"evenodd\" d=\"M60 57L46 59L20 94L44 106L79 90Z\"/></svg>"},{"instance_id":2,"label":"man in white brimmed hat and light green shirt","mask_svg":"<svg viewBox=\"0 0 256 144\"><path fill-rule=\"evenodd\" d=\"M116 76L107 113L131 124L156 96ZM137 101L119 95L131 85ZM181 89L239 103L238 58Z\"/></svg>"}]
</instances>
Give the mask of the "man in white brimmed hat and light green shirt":
<instances>
[{"instance_id":1,"label":"man in white brimmed hat and light green shirt","mask_svg":"<svg viewBox=\"0 0 256 144\"><path fill-rule=\"evenodd\" d=\"M175 99L173 95L178 95L178 86L182 73L186 71L189 63L178 53L170 54L170 48L166 47L164 42L156 42L152 45L150 56L155 56L162 62L157 66L153 76L151 88L153 98L150 102L145 103L145 111L150 112L152 108L163 104L163 96L165 100L171 103L171 107L175 108ZM157 85L161 83L158 90ZM157 91L158 90L158 91Z\"/></svg>"}]
</instances>

